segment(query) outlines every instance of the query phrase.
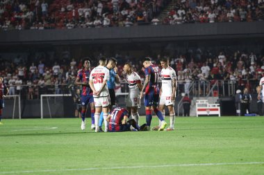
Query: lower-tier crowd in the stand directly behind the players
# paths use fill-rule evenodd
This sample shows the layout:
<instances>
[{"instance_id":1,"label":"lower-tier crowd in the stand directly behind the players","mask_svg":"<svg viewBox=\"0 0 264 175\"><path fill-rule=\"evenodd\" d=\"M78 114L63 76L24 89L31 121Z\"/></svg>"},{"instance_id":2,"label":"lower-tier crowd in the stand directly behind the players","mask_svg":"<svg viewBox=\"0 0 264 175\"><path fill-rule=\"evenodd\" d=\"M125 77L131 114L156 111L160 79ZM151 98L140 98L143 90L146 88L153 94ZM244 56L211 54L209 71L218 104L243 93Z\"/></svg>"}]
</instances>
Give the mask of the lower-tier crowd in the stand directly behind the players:
<instances>
[{"instance_id":1,"label":"lower-tier crowd in the stand directly behind the players","mask_svg":"<svg viewBox=\"0 0 264 175\"><path fill-rule=\"evenodd\" d=\"M144 80L142 62L133 56L115 55L121 82L125 82L122 69L126 60L130 60L135 72ZM156 64L160 55L153 58ZM179 81L179 93L188 93L191 82L200 82L201 87L212 85L216 80L223 80L236 84L236 89L247 87L249 92L254 91L255 85L264 74L264 55L246 53L237 50L231 54L219 52L212 54L197 48L188 49L185 54L176 57L167 57L170 65L176 70ZM41 93L69 93L74 88L74 79L83 66L83 59L58 59L53 62L44 62L40 59L35 62L22 59L19 55L13 62L1 58L0 77L9 86L10 95L27 94L26 98L38 98ZM92 62L92 68L97 62ZM120 88L121 85L117 85ZM26 93L22 93L26 92ZM206 89L207 91L207 89Z\"/></svg>"}]
</instances>

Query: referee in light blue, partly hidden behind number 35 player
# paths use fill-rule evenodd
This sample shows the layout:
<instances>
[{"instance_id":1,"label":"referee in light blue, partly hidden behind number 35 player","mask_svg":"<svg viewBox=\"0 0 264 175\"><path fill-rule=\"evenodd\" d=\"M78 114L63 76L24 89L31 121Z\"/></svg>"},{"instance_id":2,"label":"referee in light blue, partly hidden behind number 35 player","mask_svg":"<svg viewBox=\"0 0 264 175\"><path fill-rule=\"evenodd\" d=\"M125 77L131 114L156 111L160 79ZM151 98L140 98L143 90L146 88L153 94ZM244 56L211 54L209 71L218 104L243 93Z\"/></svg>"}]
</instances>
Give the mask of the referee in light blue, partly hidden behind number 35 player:
<instances>
[{"instance_id":1,"label":"referee in light blue, partly hidden behind number 35 player","mask_svg":"<svg viewBox=\"0 0 264 175\"><path fill-rule=\"evenodd\" d=\"M106 64L106 68L109 71L109 80L107 81L107 88L109 91L109 95L110 95L110 105L109 105L109 109L108 109L108 113L110 113L110 111L112 110L112 107L115 106L115 82L119 82L119 76L117 74L117 59L115 59L114 57L110 57L110 59L108 59L108 63ZM103 131L101 129L101 125L103 124L104 121L104 113L102 112L100 115L100 120L99 120L99 130Z\"/></svg>"}]
</instances>

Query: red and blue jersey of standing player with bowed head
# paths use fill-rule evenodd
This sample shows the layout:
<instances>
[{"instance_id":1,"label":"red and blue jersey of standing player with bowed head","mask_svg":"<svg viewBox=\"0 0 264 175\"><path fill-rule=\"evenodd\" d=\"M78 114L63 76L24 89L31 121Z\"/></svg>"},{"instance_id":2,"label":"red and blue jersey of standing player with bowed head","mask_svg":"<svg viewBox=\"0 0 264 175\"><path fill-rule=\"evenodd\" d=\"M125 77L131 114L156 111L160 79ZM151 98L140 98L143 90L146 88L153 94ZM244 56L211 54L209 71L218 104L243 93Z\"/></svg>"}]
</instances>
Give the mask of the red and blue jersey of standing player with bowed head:
<instances>
[{"instance_id":1,"label":"red and blue jersey of standing player with bowed head","mask_svg":"<svg viewBox=\"0 0 264 175\"><path fill-rule=\"evenodd\" d=\"M158 88L158 76L159 76L159 68L158 66L152 64L145 68L145 75L149 75L149 83L147 84L147 87L145 89L145 94L158 94L159 88Z\"/></svg>"}]
</instances>

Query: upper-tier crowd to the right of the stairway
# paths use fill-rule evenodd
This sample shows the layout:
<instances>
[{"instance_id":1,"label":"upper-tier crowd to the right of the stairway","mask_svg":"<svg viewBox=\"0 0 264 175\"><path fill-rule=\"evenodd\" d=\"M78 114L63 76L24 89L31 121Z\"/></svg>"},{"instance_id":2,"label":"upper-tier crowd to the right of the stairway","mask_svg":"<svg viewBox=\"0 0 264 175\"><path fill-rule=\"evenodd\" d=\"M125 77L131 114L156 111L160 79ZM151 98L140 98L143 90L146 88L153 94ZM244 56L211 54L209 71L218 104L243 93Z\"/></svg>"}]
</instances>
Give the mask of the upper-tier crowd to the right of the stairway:
<instances>
[{"instance_id":1,"label":"upper-tier crowd to the right of the stairway","mask_svg":"<svg viewBox=\"0 0 264 175\"><path fill-rule=\"evenodd\" d=\"M263 1L181 1L163 24L263 21Z\"/></svg>"}]
</instances>

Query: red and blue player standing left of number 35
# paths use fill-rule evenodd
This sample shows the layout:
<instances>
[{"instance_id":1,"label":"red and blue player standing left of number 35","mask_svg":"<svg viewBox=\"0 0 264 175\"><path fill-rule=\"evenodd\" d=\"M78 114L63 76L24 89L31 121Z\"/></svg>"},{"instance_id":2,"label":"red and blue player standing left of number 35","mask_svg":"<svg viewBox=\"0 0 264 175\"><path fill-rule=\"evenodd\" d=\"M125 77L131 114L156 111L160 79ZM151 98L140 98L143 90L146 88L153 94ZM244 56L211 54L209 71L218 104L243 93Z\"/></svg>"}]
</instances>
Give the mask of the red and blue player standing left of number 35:
<instances>
[{"instance_id":1,"label":"red and blue player standing left of number 35","mask_svg":"<svg viewBox=\"0 0 264 175\"><path fill-rule=\"evenodd\" d=\"M91 129L95 129L94 125L94 98L92 95L92 89L90 89L89 85L89 77L90 77L90 61L88 59L83 61L83 69L79 71L75 84L83 86L82 93L81 93L81 129L85 129L85 113L87 104L90 103L91 108L91 118L92 118L92 125Z\"/></svg>"}]
</instances>

